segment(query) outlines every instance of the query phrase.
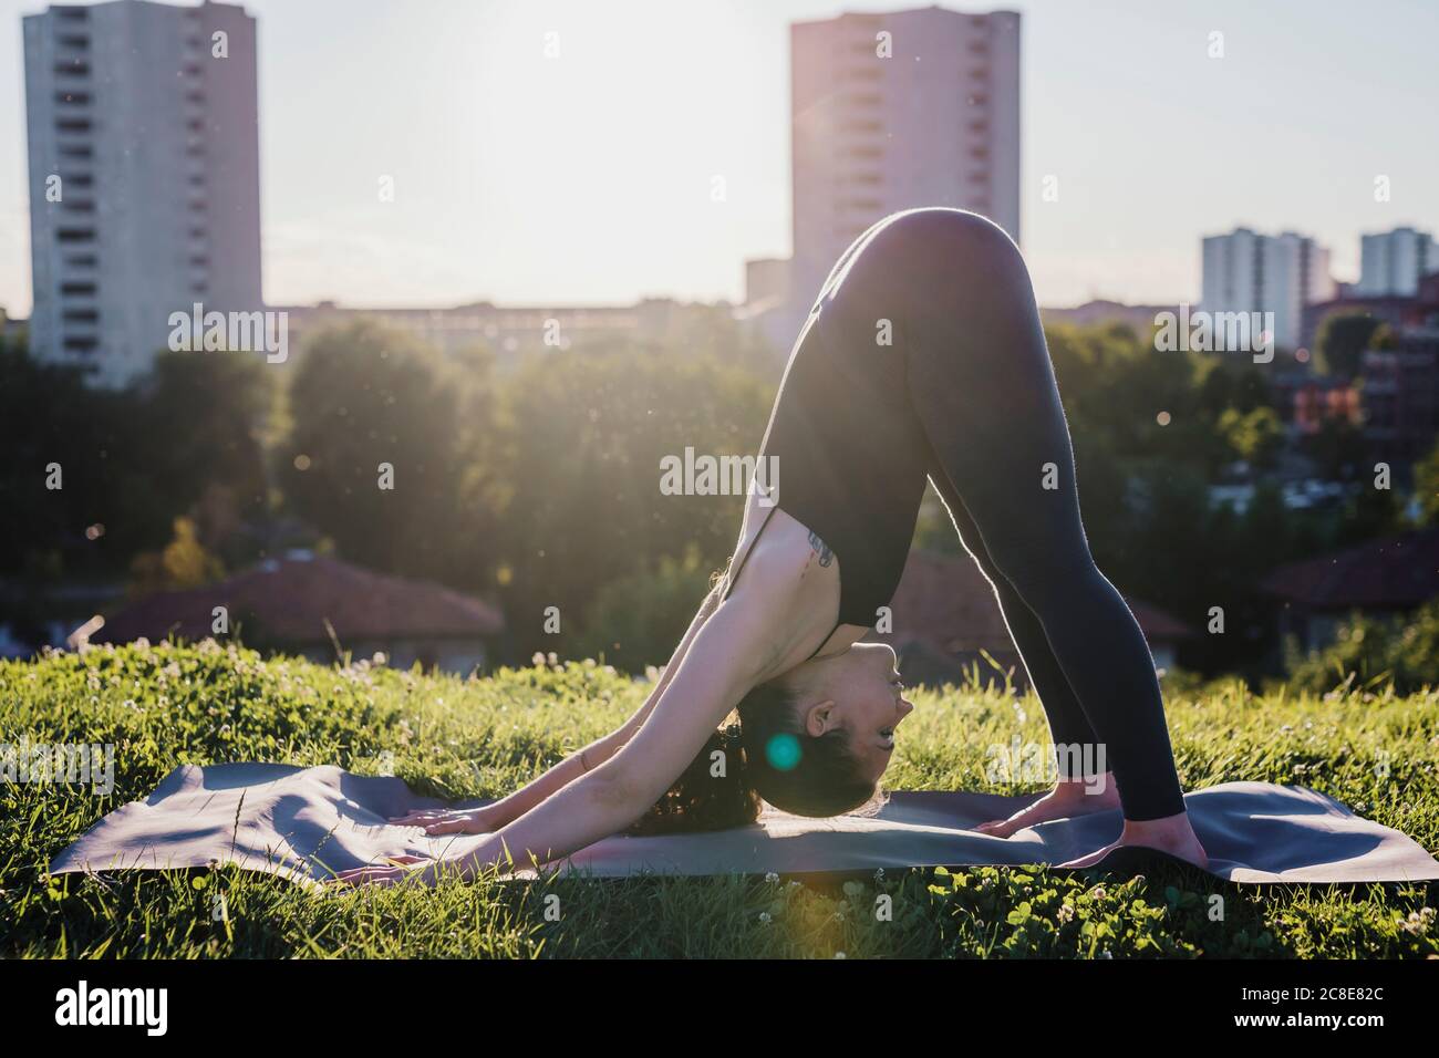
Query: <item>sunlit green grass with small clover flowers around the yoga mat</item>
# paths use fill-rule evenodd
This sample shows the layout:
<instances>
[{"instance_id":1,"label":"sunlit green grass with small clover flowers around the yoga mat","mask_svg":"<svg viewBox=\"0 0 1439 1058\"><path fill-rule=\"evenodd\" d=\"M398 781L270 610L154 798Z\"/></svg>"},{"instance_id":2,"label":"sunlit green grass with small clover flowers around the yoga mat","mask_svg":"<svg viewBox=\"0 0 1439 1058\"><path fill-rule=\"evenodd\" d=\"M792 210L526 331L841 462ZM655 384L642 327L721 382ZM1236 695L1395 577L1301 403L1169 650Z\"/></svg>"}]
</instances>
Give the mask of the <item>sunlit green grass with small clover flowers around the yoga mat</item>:
<instances>
[{"instance_id":1,"label":"sunlit green grass with small clover flowers around the yoga mat","mask_svg":"<svg viewBox=\"0 0 1439 1058\"><path fill-rule=\"evenodd\" d=\"M108 796L0 783L0 957L1439 957L1436 884L1235 887L1179 869L1121 880L977 868L826 884L448 881L314 898L233 868L45 874L101 815L147 796L180 763L373 774L384 761L425 793L498 796L606 731L645 692L593 662L460 681L263 661L213 643L0 662L0 743L115 746ZM1036 701L945 688L917 702L891 789L1039 789L984 779L987 747L1046 738ZM1315 700L1216 685L1171 692L1168 715L1186 789L1311 786L1439 848L1436 692ZM558 920L547 914L555 908Z\"/></svg>"}]
</instances>

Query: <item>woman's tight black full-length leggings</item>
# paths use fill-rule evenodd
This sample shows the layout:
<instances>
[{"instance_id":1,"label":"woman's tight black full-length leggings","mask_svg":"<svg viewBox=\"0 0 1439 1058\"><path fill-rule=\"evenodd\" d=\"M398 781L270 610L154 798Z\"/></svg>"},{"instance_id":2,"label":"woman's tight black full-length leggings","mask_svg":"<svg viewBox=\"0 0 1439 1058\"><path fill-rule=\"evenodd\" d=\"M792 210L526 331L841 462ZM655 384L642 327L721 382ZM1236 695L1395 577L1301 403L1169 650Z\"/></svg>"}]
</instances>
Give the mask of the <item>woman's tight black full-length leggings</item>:
<instances>
[{"instance_id":1,"label":"woman's tight black full-length leggings","mask_svg":"<svg viewBox=\"0 0 1439 1058\"><path fill-rule=\"evenodd\" d=\"M892 312L930 479L994 586L1056 747L1089 747L1095 761L1104 749L1127 819L1183 812L1153 656L1081 524L1069 426L1019 249L957 210L886 227L896 230L836 266L862 272L840 292ZM1066 757L1062 773L1078 777Z\"/></svg>"}]
</instances>

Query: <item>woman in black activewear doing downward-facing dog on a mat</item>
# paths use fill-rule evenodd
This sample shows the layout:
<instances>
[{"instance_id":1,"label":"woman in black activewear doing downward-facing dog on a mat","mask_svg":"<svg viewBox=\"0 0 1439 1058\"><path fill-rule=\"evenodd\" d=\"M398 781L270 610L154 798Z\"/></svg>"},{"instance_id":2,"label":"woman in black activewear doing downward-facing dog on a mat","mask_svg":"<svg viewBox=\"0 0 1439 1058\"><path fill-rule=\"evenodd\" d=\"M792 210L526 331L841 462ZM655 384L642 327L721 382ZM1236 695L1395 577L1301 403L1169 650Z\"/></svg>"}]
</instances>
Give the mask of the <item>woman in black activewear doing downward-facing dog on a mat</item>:
<instances>
[{"instance_id":1,"label":"woman in black activewear doing downward-facing dog on a mat","mask_svg":"<svg viewBox=\"0 0 1439 1058\"><path fill-rule=\"evenodd\" d=\"M915 209L849 246L790 354L767 465L776 484L751 489L725 576L627 723L495 805L394 820L492 835L463 859L341 880L543 864L627 828L748 822L761 797L809 816L871 802L912 707L894 651L858 641L899 582L927 479L994 586L1053 743L1091 747L981 831L1122 808L1118 839L1069 867L1120 845L1206 864L1148 646L1089 554L1029 273L1000 227Z\"/></svg>"}]
</instances>

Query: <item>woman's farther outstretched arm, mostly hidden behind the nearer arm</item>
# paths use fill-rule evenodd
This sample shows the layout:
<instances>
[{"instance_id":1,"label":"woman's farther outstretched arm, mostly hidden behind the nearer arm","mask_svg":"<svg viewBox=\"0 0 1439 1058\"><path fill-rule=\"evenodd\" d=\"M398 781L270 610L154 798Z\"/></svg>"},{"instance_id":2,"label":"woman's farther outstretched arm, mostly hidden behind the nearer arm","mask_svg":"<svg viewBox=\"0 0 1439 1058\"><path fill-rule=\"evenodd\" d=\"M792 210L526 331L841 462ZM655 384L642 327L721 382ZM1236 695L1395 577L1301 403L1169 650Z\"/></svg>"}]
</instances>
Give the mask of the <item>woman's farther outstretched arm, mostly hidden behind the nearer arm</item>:
<instances>
[{"instance_id":1,"label":"woman's farther outstretched arm, mostly hidden behind the nearer arm","mask_svg":"<svg viewBox=\"0 0 1439 1058\"><path fill-rule=\"evenodd\" d=\"M620 727L603 738L594 740L578 753L571 753L543 776L527 783L508 797L496 800L494 805L485 805L479 809L422 809L391 819L390 822L423 826L427 833L486 833L514 822L567 783L578 779L586 772L593 772L619 753L620 747L645 724L645 718L655 708L655 702L665 694L665 688L669 687L669 682L675 678L675 672L679 671L685 655L689 652L689 645L695 641L695 635L704 628L705 622L715 612L715 607L720 606L720 593L721 586L715 584L709 590L709 594L705 596L694 620L689 622L689 629L679 641L679 646L675 648L669 665L665 666L663 675L661 675L653 689L645 698L645 704Z\"/></svg>"}]
</instances>

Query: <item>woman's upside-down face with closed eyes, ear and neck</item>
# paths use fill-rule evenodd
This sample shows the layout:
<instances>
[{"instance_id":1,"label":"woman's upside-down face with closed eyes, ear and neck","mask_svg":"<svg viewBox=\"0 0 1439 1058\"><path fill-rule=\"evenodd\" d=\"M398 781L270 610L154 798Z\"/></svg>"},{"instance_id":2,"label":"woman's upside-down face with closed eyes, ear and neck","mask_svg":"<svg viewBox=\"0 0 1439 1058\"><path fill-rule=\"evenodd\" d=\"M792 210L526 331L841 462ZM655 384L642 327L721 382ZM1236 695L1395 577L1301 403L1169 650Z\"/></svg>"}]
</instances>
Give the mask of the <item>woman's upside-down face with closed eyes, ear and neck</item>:
<instances>
[{"instance_id":1,"label":"woman's upside-down face with closed eyes, ear and neck","mask_svg":"<svg viewBox=\"0 0 1439 1058\"><path fill-rule=\"evenodd\" d=\"M914 710L904 697L894 649L855 643L843 654L804 662L789 675L789 685L799 697L806 734L845 730L865 777L879 782L894 754L895 728Z\"/></svg>"}]
</instances>

